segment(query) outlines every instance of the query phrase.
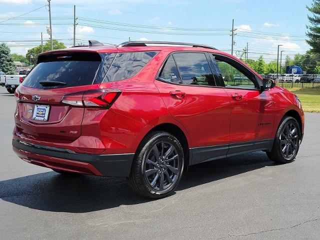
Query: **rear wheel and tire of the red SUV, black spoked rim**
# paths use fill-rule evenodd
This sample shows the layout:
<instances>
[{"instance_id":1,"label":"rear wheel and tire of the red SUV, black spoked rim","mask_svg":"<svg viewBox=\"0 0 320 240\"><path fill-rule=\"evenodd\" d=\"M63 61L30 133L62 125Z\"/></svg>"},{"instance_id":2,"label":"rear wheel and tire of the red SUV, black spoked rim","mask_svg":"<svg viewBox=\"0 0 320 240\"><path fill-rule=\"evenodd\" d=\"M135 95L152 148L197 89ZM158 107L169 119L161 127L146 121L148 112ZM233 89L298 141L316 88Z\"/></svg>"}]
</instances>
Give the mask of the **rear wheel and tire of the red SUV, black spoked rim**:
<instances>
[{"instance_id":1,"label":"rear wheel and tire of the red SUV, black spoked rim","mask_svg":"<svg viewBox=\"0 0 320 240\"><path fill-rule=\"evenodd\" d=\"M131 189L147 198L171 194L181 179L183 160L183 148L175 136L150 132L135 153L128 178Z\"/></svg>"}]
</instances>

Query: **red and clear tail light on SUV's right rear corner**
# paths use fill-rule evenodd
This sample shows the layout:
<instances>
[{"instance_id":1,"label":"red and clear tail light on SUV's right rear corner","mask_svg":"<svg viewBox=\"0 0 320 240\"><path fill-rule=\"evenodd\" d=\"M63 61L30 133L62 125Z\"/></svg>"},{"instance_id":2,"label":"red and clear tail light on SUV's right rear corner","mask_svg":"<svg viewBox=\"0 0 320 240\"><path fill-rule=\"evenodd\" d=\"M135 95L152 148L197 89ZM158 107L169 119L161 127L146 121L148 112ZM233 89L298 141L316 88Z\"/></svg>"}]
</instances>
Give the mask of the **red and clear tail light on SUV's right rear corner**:
<instances>
[{"instance_id":1,"label":"red and clear tail light on SUV's right rear corner","mask_svg":"<svg viewBox=\"0 0 320 240\"><path fill-rule=\"evenodd\" d=\"M61 102L72 106L110 108L120 93L119 89L93 89L64 95Z\"/></svg>"}]
</instances>

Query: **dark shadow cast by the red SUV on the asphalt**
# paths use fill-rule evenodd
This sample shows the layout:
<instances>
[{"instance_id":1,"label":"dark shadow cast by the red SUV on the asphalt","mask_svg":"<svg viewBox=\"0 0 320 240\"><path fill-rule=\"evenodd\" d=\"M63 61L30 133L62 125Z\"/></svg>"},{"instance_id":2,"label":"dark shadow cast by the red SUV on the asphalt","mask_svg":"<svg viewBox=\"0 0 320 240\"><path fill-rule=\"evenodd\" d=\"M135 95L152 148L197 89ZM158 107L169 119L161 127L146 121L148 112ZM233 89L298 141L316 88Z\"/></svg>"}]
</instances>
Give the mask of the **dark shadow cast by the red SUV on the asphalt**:
<instances>
[{"instance_id":1,"label":"dark shadow cast by the red SUV on the asphalt","mask_svg":"<svg viewBox=\"0 0 320 240\"><path fill-rule=\"evenodd\" d=\"M276 164L262 151L197 164L189 167L176 190L265 166ZM132 192L123 177L65 176L54 171L0 181L0 198L33 209L72 213L152 201Z\"/></svg>"}]
</instances>

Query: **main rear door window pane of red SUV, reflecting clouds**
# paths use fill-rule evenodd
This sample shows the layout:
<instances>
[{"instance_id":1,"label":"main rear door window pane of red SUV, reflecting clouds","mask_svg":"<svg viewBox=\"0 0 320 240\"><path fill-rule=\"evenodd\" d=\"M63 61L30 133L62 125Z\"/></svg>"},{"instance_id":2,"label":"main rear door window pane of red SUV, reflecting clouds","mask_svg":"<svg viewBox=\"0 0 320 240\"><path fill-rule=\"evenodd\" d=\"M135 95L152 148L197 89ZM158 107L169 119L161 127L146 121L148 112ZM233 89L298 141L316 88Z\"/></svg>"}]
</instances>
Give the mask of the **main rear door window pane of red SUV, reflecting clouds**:
<instances>
[{"instance_id":1,"label":"main rear door window pane of red SUV, reflecting clouds","mask_svg":"<svg viewBox=\"0 0 320 240\"><path fill-rule=\"evenodd\" d=\"M203 52L173 53L183 84L215 86L209 63Z\"/></svg>"}]
</instances>

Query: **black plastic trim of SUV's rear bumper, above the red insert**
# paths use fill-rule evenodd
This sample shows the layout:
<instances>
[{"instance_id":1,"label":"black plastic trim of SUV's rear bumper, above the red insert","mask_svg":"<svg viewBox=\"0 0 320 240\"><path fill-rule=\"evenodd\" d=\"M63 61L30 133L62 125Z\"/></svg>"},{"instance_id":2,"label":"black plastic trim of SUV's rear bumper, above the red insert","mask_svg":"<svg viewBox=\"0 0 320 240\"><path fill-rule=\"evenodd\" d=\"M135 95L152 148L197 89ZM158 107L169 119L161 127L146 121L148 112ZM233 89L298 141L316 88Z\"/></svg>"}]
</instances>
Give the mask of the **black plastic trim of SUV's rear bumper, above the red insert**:
<instances>
[{"instance_id":1,"label":"black plastic trim of SUV's rear bumper, above the red insert","mask_svg":"<svg viewBox=\"0 0 320 240\"><path fill-rule=\"evenodd\" d=\"M128 176L134 153L86 154L66 148L49 147L12 139L12 146L27 152L93 165L104 176Z\"/></svg>"}]
</instances>

